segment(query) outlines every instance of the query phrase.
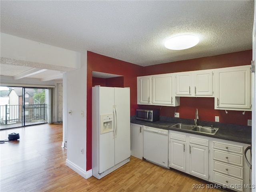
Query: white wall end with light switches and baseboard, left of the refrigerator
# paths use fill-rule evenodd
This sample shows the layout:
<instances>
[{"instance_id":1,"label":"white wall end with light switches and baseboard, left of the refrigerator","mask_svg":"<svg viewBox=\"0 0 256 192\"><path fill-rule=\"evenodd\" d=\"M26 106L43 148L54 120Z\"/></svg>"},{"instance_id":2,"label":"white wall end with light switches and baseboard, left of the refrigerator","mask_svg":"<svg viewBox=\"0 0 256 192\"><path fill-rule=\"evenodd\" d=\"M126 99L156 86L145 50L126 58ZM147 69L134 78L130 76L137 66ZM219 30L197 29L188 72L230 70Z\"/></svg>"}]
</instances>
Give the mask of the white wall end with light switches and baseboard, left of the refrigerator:
<instances>
[{"instance_id":1,"label":"white wall end with light switches and baseboard, left of the refrigerator","mask_svg":"<svg viewBox=\"0 0 256 192\"><path fill-rule=\"evenodd\" d=\"M63 87L66 86L64 92L67 94L67 108L64 112L67 126L66 165L84 178L89 178L92 176L92 171L86 172L86 74L87 52L84 52L81 53L81 68L66 72ZM68 114L69 111L71 114ZM83 154L80 152L81 148L83 148Z\"/></svg>"}]
</instances>

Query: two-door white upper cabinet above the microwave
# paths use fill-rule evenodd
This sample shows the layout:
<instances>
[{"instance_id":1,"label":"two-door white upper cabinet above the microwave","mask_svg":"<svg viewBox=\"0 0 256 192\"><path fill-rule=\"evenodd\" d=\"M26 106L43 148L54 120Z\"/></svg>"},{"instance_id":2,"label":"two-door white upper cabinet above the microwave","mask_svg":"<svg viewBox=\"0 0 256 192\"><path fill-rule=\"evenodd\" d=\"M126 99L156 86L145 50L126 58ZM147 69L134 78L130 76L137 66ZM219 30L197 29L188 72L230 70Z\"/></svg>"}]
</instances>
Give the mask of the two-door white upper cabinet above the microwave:
<instances>
[{"instance_id":1,"label":"two-door white upper cabinet above the microwave","mask_svg":"<svg viewBox=\"0 0 256 192\"><path fill-rule=\"evenodd\" d=\"M178 106L179 98L175 97L174 75L159 74L137 78L138 104Z\"/></svg>"}]
</instances>

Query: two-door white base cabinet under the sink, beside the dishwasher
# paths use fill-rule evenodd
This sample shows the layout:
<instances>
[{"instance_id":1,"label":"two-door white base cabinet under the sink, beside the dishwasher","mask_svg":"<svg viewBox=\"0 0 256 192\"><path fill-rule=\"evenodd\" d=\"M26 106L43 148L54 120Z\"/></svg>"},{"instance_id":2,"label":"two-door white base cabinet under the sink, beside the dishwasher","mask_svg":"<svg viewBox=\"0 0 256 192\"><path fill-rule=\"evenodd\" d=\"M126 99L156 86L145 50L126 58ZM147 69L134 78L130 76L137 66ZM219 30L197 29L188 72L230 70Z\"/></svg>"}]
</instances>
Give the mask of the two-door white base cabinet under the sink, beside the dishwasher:
<instances>
[{"instance_id":1,"label":"two-door white base cabinet under the sink, beside the dishwasher","mask_svg":"<svg viewBox=\"0 0 256 192\"><path fill-rule=\"evenodd\" d=\"M169 167L197 176L209 177L209 142L204 136L169 131Z\"/></svg>"}]
</instances>

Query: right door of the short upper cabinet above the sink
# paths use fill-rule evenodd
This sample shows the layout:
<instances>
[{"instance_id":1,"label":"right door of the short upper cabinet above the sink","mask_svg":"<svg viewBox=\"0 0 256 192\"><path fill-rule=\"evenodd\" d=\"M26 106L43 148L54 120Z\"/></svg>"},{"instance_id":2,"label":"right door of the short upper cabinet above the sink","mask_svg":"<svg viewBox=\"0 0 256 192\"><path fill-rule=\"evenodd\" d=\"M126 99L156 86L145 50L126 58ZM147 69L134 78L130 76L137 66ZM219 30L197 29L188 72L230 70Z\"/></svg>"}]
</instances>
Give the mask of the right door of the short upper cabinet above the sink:
<instances>
[{"instance_id":1,"label":"right door of the short upper cabinet above the sink","mask_svg":"<svg viewBox=\"0 0 256 192\"><path fill-rule=\"evenodd\" d=\"M195 96L213 95L212 74L213 73L211 70L202 70L202 71L195 72L194 74Z\"/></svg>"}]
</instances>

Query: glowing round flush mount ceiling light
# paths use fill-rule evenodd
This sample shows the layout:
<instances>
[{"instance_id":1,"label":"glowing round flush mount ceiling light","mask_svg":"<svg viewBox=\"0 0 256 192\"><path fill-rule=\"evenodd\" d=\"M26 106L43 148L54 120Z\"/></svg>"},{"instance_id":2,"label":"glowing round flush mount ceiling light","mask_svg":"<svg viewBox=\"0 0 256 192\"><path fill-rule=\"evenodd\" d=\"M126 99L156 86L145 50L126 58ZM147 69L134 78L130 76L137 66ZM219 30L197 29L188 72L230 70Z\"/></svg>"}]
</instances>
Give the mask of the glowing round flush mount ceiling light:
<instances>
[{"instance_id":1,"label":"glowing round flush mount ceiling light","mask_svg":"<svg viewBox=\"0 0 256 192\"><path fill-rule=\"evenodd\" d=\"M188 49L196 46L198 42L199 42L198 37L190 34L184 34L184 35L174 36L168 39L164 43L164 46L171 50L183 50L183 49Z\"/></svg>"}]
</instances>

